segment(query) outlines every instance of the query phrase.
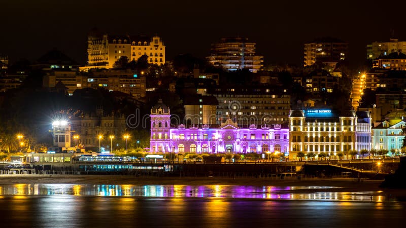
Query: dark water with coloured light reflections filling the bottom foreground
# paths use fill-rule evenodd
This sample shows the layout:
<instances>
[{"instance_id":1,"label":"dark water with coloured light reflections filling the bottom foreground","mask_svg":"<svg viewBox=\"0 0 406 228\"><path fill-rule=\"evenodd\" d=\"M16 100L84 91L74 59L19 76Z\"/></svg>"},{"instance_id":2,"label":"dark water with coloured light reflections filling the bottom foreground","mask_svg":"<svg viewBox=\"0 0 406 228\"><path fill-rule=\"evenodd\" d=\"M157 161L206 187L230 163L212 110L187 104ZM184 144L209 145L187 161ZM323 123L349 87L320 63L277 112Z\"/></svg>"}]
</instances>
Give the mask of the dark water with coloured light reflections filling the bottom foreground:
<instances>
[{"instance_id":1,"label":"dark water with coloured light reflections filling the bottom foreground","mask_svg":"<svg viewBox=\"0 0 406 228\"><path fill-rule=\"evenodd\" d=\"M334 192L335 189L231 185L0 185L0 227L403 226L404 202L380 196L380 193Z\"/></svg>"}]
</instances>

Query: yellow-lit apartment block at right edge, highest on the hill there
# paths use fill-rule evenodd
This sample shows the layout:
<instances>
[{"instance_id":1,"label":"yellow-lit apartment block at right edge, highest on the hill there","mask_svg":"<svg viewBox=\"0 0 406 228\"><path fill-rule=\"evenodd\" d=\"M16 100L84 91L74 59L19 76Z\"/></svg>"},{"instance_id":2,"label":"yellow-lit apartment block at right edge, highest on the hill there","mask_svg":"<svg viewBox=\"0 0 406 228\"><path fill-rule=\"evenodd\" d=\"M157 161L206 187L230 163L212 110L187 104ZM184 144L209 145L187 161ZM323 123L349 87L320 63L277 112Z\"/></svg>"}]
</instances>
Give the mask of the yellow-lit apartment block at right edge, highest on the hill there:
<instances>
[{"instance_id":1,"label":"yellow-lit apartment block at right edge, highest on the hill there","mask_svg":"<svg viewBox=\"0 0 406 228\"><path fill-rule=\"evenodd\" d=\"M367 59L376 59L393 52L406 52L406 41L389 39L389 42L374 42L366 46Z\"/></svg>"}]
</instances>

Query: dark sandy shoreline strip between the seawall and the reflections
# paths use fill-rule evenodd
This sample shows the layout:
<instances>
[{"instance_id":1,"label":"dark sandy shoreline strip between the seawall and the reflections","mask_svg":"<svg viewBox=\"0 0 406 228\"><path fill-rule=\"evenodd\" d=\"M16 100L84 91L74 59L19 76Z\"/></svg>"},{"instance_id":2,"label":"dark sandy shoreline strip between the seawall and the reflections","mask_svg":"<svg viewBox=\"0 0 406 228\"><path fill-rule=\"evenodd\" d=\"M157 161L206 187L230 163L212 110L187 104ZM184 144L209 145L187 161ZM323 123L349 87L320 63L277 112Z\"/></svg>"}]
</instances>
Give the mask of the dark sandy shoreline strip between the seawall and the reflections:
<instances>
[{"instance_id":1,"label":"dark sandy shoreline strip between the seawall and the reflections","mask_svg":"<svg viewBox=\"0 0 406 228\"><path fill-rule=\"evenodd\" d=\"M114 175L0 175L0 185L13 184L105 184L105 185L240 185L240 186L328 186L332 188L291 189L291 193L363 192L370 196L406 197L405 189L380 188L383 180L357 178L216 178L216 177L148 177Z\"/></svg>"}]
</instances>

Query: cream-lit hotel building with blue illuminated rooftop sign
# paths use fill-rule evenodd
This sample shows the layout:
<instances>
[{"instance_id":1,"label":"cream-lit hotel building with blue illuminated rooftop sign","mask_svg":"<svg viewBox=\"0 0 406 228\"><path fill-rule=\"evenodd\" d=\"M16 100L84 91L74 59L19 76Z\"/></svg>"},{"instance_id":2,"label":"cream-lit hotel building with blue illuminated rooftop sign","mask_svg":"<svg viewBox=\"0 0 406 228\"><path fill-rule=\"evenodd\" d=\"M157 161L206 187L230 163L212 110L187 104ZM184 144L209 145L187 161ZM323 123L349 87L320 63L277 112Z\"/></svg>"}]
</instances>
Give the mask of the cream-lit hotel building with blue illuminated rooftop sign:
<instances>
[{"instance_id":1,"label":"cream-lit hotel building with blue illuminated rooftop sign","mask_svg":"<svg viewBox=\"0 0 406 228\"><path fill-rule=\"evenodd\" d=\"M297 160L297 153L306 156L328 153L336 156L356 149L370 149L371 119L369 112L354 110L334 113L330 109L291 110L289 115L289 159Z\"/></svg>"}]
</instances>

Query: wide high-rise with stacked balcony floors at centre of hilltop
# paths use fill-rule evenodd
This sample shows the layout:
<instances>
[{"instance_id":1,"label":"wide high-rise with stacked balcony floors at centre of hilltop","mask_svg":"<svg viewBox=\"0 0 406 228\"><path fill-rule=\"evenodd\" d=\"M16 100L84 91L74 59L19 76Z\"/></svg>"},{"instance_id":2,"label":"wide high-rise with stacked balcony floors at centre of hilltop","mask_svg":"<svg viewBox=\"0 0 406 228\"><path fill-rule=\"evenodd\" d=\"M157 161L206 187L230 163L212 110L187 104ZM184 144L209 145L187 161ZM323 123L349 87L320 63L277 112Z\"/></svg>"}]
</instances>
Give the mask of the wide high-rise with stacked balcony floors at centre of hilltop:
<instances>
[{"instance_id":1,"label":"wide high-rise with stacked balcony floors at centre of hilltop","mask_svg":"<svg viewBox=\"0 0 406 228\"><path fill-rule=\"evenodd\" d=\"M211 54L206 57L213 66L227 70L249 69L257 72L263 69L263 56L256 55L255 43L243 37L222 38L212 44Z\"/></svg>"}]
</instances>

